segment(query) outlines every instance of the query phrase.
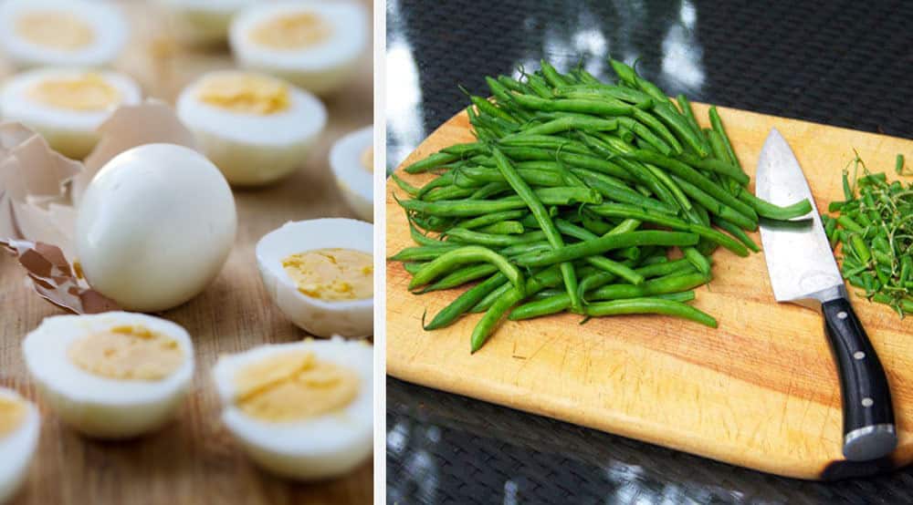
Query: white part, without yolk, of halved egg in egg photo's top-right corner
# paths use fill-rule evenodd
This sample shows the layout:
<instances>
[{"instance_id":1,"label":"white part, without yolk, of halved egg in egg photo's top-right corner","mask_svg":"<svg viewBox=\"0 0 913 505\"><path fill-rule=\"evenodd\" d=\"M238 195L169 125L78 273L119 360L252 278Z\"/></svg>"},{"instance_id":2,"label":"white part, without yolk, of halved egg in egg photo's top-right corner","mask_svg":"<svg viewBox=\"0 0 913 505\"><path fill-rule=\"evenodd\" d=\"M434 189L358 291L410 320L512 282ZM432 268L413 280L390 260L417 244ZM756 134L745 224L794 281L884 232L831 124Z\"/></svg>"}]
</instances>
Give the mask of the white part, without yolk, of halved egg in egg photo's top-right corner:
<instances>
[{"instance_id":1,"label":"white part, without yolk, of halved egg in egg photo's top-right corner","mask_svg":"<svg viewBox=\"0 0 913 505\"><path fill-rule=\"evenodd\" d=\"M313 13L331 26L332 34L314 46L279 50L250 40L251 30L278 16ZM368 43L368 13L346 0L277 2L252 5L238 13L229 29L232 52L241 67L282 77L317 94L345 83Z\"/></svg>"}]
</instances>

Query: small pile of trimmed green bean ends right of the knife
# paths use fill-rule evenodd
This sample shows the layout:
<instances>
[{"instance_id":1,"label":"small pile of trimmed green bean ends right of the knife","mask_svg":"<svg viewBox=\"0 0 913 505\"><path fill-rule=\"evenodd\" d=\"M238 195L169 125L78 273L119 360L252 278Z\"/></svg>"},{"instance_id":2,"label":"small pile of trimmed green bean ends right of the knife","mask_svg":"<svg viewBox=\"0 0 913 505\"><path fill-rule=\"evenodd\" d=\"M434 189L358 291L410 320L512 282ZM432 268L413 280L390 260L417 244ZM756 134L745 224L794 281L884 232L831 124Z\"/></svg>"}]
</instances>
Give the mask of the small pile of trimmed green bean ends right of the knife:
<instances>
[{"instance_id":1,"label":"small pile of trimmed green bean ends right of the knife","mask_svg":"<svg viewBox=\"0 0 913 505\"><path fill-rule=\"evenodd\" d=\"M842 253L841 272L872 302L887 304L900 317L913 313L913 183L887 182L884 172L869 173L856 154L844 170L844 201L823 214L831 247ZM857 177L862 168L862 177ZM897 174L904 157L897 155ZM855 181L855 182L853 182Z\"/></svg>"}]
</instances>

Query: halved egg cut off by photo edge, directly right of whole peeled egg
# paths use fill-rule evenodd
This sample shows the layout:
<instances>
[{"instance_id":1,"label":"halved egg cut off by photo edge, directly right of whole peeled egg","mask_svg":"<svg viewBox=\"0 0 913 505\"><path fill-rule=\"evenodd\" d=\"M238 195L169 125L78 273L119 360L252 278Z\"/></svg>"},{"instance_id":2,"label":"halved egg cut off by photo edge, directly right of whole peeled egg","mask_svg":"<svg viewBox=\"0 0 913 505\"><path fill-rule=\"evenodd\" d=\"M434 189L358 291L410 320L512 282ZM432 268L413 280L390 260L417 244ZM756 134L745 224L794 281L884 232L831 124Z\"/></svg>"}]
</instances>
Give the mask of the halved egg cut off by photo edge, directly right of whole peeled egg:
<instances>
[{"instance_id":1,"label":"halved egg cut off by photo edge, directly right of whole peeled egg","mask_svg":"<svg viewBox=\"0 0 913 505\"><path fill-rule=\"evenodd\" d=\"M373 334L373 225L288 222L257 242L257 265L279 309L311 335Z\"/></svg>"}]
</instances>

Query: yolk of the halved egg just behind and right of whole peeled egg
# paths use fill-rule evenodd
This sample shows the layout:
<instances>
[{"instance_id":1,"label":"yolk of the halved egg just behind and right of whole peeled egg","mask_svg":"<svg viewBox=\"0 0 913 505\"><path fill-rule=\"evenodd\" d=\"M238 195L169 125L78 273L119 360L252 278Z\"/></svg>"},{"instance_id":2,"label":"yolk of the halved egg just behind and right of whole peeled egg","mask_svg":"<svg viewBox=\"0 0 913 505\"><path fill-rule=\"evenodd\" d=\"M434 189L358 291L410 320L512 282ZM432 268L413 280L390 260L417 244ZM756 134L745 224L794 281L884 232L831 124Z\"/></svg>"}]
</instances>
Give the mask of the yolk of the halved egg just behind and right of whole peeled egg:
<instances>
[{"instance_id":1,"label":"yolk of the halved egg just behind and right of whole peeled egg","mask_svg":"<svg viewBox=\"0 0 913 505\"><path fill-rule=\"evenodd\" d=\"M242 114L266 116L290 106L289 86L255 74L221 74L200 83L197 98L209 105Z\"/></svg>"}]
</instances>

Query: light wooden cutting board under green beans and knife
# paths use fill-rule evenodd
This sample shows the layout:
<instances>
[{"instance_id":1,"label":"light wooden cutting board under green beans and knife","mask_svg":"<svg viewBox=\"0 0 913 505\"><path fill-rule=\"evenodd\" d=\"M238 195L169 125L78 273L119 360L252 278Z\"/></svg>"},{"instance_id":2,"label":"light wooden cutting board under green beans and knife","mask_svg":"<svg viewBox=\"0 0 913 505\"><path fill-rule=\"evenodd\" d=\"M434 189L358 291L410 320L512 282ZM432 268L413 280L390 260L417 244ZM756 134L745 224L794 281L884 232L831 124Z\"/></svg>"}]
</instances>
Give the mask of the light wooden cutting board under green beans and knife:
<instances>
[{"instance_id":1,"label":"light wooden cutting board under green beans and knife","mask_svg":"<svg viewBox=\"0 0 913 505\"><path fill-rule=\"evenodd\" d=\"M707 106L696 104L698 118ZM859 151L894 179L895 155L913 141L720 108L733 146L752 174L771 127L790 141L820 209L842 199L841 170ZM706 125L705 125L706 126ZM437 129L404 161L472 140L465 114ZM431 175L404 180L420 184ZM387 184L387 254L407 245L404 212ZM752 187L753 191L753 187ZM760 243L757 233L753 235ZM416 296L401 263L387 265L387 373L417 384L556 417L734 465L802 479L873 473L913 459L913 319L854 295L855 308L887 368L899 447L886 461L852 464L841 454L840 391L819 314L777 304L763 253L714 254L714 280L694 303L719 319L708 329L662 316L557 314L505 322L476 355L479 315L425 332L429 317L460 290ZM855 289L851 290L855 293Z\"/></svg>"}]
</instances>

